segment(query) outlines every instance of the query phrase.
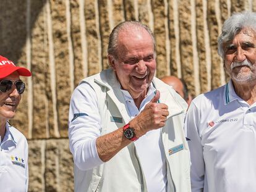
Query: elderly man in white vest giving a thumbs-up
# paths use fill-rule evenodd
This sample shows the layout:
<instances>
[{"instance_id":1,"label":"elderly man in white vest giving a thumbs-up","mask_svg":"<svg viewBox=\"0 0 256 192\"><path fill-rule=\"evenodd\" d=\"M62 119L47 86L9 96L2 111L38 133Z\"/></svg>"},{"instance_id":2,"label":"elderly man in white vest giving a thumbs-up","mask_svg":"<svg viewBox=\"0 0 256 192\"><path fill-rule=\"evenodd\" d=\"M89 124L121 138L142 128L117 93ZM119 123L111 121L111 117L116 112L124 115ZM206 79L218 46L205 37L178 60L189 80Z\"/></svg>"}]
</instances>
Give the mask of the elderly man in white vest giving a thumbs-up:
<instances>
[{"instance_id":1,"label":"elderly man in white vest giving a thumbs-up","mask_svg":"<svg viewBox=\"0 0 256 192\"><path fill-rule=\"evenodd\" d=\"M75 191L190 191L187 104L154 77L153 33L120 23L108 60L111 69L82 80L70 101Z\"/></svg>"}]
</instances>

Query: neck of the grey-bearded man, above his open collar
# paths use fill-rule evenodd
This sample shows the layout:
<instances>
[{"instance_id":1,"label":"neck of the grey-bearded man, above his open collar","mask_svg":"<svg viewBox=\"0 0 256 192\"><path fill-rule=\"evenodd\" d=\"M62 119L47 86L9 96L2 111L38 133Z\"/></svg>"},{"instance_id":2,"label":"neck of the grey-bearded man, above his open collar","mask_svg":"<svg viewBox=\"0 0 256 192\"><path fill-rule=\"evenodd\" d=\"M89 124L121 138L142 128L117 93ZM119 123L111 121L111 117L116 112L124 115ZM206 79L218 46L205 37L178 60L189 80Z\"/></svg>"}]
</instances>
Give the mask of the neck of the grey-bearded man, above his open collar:
<instances>
[{"instance_id":1,"label":"neck of the grey-bearded man, above his open collar","mask_svg":"<svg viewBox=\"0 0 256 192\"><path fill-rule=\"evenodd\" d=\"M255 81L247 84L239 84L233 81L234 91L237 96L246 101L250 106L256 102L256 83Z\"/></svg>"}]
</instances>

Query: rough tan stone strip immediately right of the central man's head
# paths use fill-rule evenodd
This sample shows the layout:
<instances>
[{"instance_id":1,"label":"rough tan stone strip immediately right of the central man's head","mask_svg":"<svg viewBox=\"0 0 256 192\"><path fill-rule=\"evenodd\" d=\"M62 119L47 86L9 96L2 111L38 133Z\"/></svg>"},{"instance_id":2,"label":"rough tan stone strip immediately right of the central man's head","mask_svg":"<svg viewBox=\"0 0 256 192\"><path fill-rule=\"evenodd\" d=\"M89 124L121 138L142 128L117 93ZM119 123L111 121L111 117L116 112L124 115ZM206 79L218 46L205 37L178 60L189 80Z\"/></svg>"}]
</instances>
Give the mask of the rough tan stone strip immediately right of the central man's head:
<instances>
[{"instance_id":1,"label":"rough tan stone strip immediately right of the central man's head","mask_svg":"<svg viewBox=\"0 0 256 192\"><path fill-rule=\"evenodd\" d=\"M157 7L157 8L156 8ZM154 15L154 34L156 40L156 76L163 77L166 74L167 68L169 65L166 65L166 33L169 33L165 30L165 19L167 17L164 12L164 1L152 1L152 9Z\"/></svg>"}]
</instances>

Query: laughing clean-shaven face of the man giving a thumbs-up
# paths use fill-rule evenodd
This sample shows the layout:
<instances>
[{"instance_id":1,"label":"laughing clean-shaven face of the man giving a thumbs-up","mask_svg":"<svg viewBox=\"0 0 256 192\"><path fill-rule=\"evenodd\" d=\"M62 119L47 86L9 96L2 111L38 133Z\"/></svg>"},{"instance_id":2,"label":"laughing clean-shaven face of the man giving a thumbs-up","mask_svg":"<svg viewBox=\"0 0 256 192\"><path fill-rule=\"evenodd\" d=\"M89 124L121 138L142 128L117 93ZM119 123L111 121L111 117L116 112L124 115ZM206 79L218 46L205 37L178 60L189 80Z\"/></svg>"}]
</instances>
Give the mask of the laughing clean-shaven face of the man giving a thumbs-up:
<instances>
[{"instance_id":1,"label":"laughing clean-shaven face of the man giving a thumbs-up","mask_svg":"<svg viewBox=\"0 0 256 192\"><path fill-rule=\"evenodd\" d=\"M153 40L144 28L123 29L119 32L117 59L109 56L124 90L137 99L147 94L156 69Z\"/></svg>"}]
</instances>

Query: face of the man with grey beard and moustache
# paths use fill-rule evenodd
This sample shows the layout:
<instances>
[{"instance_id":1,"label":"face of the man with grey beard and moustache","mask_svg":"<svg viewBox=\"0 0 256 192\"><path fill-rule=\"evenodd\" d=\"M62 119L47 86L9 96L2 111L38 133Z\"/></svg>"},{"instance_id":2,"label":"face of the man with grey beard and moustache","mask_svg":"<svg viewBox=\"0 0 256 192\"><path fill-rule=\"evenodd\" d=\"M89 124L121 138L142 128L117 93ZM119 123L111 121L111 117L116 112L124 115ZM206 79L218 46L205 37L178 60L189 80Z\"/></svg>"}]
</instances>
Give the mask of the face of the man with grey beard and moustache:
<instances>
[{"instance_id":1,"label":"face of the man with grey beard and moustache","mask_svg":"<svg viewBox=\"0 0 256 192\"><path fill-rule=\"evenodd\" d=\"M256 33L243 29L224 46L224 67L238 84L256 81Z\"/></svg>"}]
</instances>

